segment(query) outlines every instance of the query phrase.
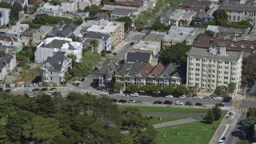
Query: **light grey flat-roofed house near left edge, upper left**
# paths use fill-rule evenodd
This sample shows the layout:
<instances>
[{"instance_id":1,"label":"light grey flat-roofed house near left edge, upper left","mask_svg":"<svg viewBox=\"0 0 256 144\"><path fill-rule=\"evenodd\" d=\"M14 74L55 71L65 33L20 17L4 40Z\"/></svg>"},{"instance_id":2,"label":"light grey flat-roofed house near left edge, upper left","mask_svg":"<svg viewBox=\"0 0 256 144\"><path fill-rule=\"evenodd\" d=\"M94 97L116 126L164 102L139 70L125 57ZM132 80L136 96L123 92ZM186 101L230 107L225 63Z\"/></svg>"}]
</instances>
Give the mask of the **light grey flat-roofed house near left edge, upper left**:
<instances>
[{"instance_id":1,"label":"light grey flat-roofed house near left edge, upper left","mask_svg":"<svg viewBox=\"0 0 256 144\"><path fill-rule=\"evenodd\" d=\"M28 24L20 24L20 23L16 23L15 26L12 26L10 28L10 30L6 31L6 34L10 35L10 36L14 36L17 38L21 38L21 34L29 29L29 25Z\"/></svg>"}]
</instances>

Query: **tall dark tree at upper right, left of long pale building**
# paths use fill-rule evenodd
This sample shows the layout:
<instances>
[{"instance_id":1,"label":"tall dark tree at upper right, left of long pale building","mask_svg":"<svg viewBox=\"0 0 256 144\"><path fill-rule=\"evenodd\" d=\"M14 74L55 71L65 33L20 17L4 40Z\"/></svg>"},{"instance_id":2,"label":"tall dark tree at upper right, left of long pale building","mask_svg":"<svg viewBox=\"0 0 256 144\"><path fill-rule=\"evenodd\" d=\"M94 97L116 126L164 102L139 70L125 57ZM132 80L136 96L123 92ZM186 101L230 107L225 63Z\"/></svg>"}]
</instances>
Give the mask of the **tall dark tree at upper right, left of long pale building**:
<instances>
[{"instance_id":1,"label":"tall dark tree at upper right, left of long pale building","mask_svg":"<svg viewBox=\"0 0 256 144\"><path fill-rule=\"evenodd\" d=\"M218 26L229 26L228 17L226 10L219 9L215 15L215 22Z\"/></svg>"}]
</instances>

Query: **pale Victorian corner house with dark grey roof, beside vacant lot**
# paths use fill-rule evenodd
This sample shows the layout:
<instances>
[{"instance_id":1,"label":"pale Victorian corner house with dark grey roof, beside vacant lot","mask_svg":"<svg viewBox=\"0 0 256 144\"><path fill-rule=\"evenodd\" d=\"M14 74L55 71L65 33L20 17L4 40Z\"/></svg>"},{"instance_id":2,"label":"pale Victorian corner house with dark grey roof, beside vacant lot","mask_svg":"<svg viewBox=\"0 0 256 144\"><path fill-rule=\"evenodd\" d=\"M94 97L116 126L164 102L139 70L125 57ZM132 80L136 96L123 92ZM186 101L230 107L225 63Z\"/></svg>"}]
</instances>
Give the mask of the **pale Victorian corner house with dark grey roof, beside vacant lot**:
<instances>
[{"instance_id":1,"label":"pale Victorian corner house with dark grey roof, beside vacant lot","mask_svg":"<svg viewBox=\"0 0 256 144\"><path fill-rule=\"evenodd\" d=\"M52 57L48 57L41 67L42 82L57 83L65 81L65 73L72 69L72 59L57 51Z\"/></svg>"}]
</instances>

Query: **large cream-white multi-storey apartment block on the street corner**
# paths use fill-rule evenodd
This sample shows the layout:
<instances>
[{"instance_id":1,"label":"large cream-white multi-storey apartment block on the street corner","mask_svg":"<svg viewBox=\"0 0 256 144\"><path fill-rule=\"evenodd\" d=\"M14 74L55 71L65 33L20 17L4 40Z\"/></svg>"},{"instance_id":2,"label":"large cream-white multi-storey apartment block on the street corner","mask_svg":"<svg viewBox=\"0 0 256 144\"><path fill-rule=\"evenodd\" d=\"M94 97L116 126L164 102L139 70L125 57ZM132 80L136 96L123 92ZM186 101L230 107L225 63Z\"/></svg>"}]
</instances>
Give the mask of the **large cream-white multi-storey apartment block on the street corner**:
<instances>
[{"instance_id":1,"label":"large cream-white multi-storey apartment block on the street corner","mask_svg":"<svg viewBox=\"0 0 256 144\"><path fill-rule=\"evenodd\" d=\"M241 86L242 52L225 47L203 49L192 47L187 52L186 86L214 90L230 82Z\"/></svg>"}]
</instances>

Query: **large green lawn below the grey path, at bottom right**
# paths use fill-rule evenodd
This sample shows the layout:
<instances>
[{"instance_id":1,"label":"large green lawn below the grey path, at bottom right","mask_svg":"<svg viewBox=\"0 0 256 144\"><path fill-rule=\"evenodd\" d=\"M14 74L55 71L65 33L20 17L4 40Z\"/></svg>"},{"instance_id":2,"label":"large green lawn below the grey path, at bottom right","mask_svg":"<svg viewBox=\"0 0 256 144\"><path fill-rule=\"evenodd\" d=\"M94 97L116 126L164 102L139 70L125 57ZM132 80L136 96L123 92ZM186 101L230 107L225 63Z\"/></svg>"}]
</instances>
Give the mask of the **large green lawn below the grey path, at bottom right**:
<instances>
[{"instance_id":1,"label":"large green lawn below the grey path, at bottom right","mask_svg":"<svg viewBox=\"0 0 256 144\"><path fill-rule=\"evenodd\" d=\"M223 117L224 116L222 116L222 118ZM209 143L215 131L218 129L218 125L220 122L222 122L222 118L213 124L206 124L204 122L191 122L177 126L166 126L158 128L156 129L158 131L157 142L160 144ZM175 134L176 130L179 135ZM166 134L166 139L164 139L164 134Z\"/></svg>"}]
</instances>

